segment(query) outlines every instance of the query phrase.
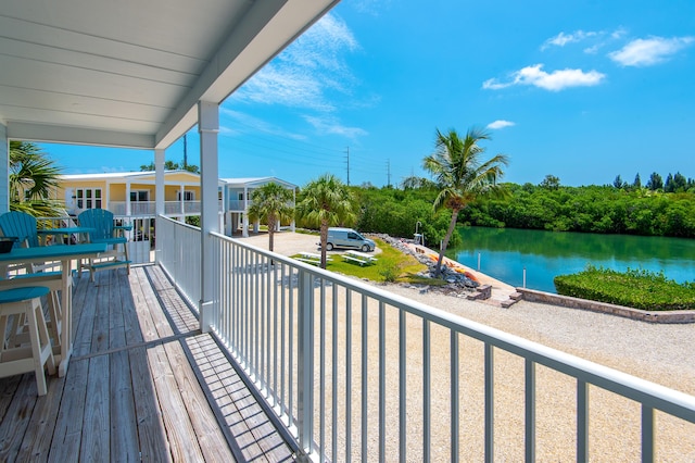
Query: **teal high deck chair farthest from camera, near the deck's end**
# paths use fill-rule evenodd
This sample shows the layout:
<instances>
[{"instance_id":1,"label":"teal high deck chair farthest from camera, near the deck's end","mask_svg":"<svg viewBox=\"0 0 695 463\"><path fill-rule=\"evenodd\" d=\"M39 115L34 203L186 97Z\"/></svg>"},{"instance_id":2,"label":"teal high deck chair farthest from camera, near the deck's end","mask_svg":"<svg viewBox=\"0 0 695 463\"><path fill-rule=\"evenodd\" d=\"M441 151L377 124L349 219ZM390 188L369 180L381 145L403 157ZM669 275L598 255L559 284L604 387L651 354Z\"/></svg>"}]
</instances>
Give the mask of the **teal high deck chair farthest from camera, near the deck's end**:
<instances>
[{"instance_id":1,"label":"teal high deck chair farthest from camera, near the deck's end","mask_svg":"<svg viewBox=\"0 0 695 463\"><path fill-rule=\"evenodd\" d=\"M80 227L91 228L87 236L90 242L104 242L110 251L99 259L89 259L88 263L80 263L79 268L89 270L89 280L94 280L94 272L102 270L125 267L130 275L130 260L128 259L128 239L124 235L125 227L116 227L113 212L105 209L88 209L77 216Z\"/></svg>"}]
</instances>

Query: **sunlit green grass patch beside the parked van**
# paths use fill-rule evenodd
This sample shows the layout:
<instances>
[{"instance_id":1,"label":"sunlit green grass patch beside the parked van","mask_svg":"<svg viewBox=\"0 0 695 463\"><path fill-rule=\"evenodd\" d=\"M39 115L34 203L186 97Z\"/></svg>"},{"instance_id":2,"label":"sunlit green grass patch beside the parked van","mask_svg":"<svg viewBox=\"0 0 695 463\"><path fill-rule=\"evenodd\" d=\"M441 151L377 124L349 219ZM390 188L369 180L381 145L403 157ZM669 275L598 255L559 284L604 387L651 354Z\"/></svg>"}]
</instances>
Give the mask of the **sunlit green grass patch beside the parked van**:
<instances>
[{"instance_id":1,"label":"sunlit green grass patch beside the parked van","mask_svg":"<svg viewBox=\"0 0 695 463\"><path fill-rule=\"evenodd\" d=\"M376 255L377 262L372 265L358 265L344 261L339 254L329 254L331 261L326 264L326 270L343 275L366 278L372 281L384 281L389 279L395 283L409 283L419 285L442 285L443 280L417 276L418 273L427 270L427 265L418 262L410 254L399 251L381 239L375 239L381 253ZM293 258L298 258L293 255ZM395 275L392 279L390 275ZM387 276L389 276L387 278Z\"/></svg>"}]
</instances>

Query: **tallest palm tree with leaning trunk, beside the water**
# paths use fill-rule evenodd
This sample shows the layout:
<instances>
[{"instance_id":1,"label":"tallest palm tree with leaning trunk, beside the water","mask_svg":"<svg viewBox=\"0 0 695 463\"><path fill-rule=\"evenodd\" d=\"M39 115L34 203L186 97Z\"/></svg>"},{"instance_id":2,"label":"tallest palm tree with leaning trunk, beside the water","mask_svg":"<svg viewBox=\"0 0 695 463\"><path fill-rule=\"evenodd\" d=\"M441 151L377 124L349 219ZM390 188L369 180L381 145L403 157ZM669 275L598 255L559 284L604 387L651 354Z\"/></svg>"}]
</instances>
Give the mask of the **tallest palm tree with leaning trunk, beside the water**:
<instances>
[{"instance_id":1,"label":"tallest palm tree with leaning trunk, beside the water","mask_svg":"<svg viewBox=\"0 0 695 463\"><path fill-rule=\"evenodd\" d=\"M502 167L508 164L508 159L505 154L496 154L483 162L480 157L485 149L478 143L489 139L488 133L476 128L469 129L464 138L454 129L447 134L438 129L434 153L422 162L424 168L434 176L441 188L434 199L434 210L447 208L452 211L452 221L439 251L437 276L441 273L444 252L456 228L458 212L479 196L502 192L497 180L504 175Z\"/></svg>"}]
</instances>

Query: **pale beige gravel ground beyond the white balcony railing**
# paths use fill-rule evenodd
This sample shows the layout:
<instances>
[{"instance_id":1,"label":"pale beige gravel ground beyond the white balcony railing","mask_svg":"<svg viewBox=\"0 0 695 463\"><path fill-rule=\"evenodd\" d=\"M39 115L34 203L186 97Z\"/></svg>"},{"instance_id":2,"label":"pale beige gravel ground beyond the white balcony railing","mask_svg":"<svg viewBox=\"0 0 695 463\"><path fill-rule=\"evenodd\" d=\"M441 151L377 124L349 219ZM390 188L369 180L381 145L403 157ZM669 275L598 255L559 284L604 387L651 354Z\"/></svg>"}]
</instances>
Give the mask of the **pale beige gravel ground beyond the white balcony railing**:
<instances>
[{"instance_id":1,"label":"pale beige gravel ground beyond the white balcony railing","mask_svg":"<svg viewBox=\"0 0 695 463\"><path fill-rule=\"evenodd\" d=\"M244 238L248 242L267 249L267 235ZM301 251L316 251L317 237L311 235L280 233L276 235L275 251L292 255ZM503 331L542 343L544 346L578 355L580 358L626 372L641 378L695 395L695 363L692 361L695 341L695 325L659 325L631 321L607 314L567 309L549 304L521 301L509 309L501 309L479 301L462 298L422 293L417 288L402 285L375 284L393 293L445 310ZM374 326L374 325L371 325ZM417 327L414 329L418 329ZM355 327L357 330L357 327ZM417 339L416 336L408 339ZM410 345L410 341L408 342ZM370 342L376 347L376 341ZM419 352L417 345L413 346ZM466 461L482 459L481 421L483 390L482 349L478 341L464 341L462 371L471 371L470 384L462 399L462 454ZM438 352L445 352L438 359ZM471 354L477 352L479 354ZM432 378L445 378L448 362L448 337L432 333ZM440 362L438 362L440 360ZM441 368L441 372L440 372ZM522 460L523 442L523 362L515 355L495 351L495 372L505 381L495 381L495 458L500 461ZM510 373L518 372L518 373ZM420 388L417 372L410 374L408 391L417 397ZM464 381L466 383L466 381ZM433 383L438 384L438 383ZM438 408L445 410L447 386L432 390L433 414ZM394 385L397 387L397 385ZM565 375L539 367L536 372L538 450L536 461L574 460L574 408L576 383ZM441 405L440 405L441 403ZM389 404L388 413L397 417L397 404ZM394 406L396 406L394 409ZM435 420L437 417L433 417ZM397 418L396 418L397 420ZM417 416L408 416L413 423L408 438L419 442L420 423ZM358 422L357 422L358 423ZM395 422L397 423L397 421ZM469 423L467 427L466 423ZM397 427L397 426L395 426ZM446 460L448 436L439 436L433 425L432 458ZM695 461L695 426L657 413L656 461ZM639 461L640 412L636 404L617 398L601 389L590 388L590 458L593 461ZM357 442L354 446L358 447ZM370 442L370 448L372 442ZM388 446L388 452L395 452ZM391 453L394 454L395 453ZM421 455L408 455L417 461ZM390 459L389 459L390 460Z\"/></svg>"}]
</instances>

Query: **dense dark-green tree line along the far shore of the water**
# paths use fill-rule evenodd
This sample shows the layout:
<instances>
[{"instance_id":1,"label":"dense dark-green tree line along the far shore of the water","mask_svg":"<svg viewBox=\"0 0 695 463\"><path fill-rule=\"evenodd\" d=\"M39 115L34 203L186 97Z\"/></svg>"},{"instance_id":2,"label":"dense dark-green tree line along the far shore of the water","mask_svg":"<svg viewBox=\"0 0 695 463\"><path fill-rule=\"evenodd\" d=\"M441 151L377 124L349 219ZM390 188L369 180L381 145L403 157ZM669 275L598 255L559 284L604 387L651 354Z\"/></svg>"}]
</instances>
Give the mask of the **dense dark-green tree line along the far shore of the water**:
<instances>
[{"instance_id":1,"label":"dense dark-green tree line along the far shore of the water","mask_svg":"<svg viewBox=\"0 0 695 463\"><path fill-rule=\"evenodd\" d=\"M669 175L669 185L682 185L682 175ZM459 225L628 234L695 238L695 190L667 192L658 175L647 186L561 186L548 175L539 185L503 184L507 195L479 198L464 208ZM692 184L686 179L685 185ZM657 187L650 189L650 187ZM451 211L433 211L438 185L425 178L406 178L400 187L352 187L359 204L357 229L412 238L416 223L427 243L443 239ZM457 246L457 235L452 247Z\"/></svg>"}]
</instances>

